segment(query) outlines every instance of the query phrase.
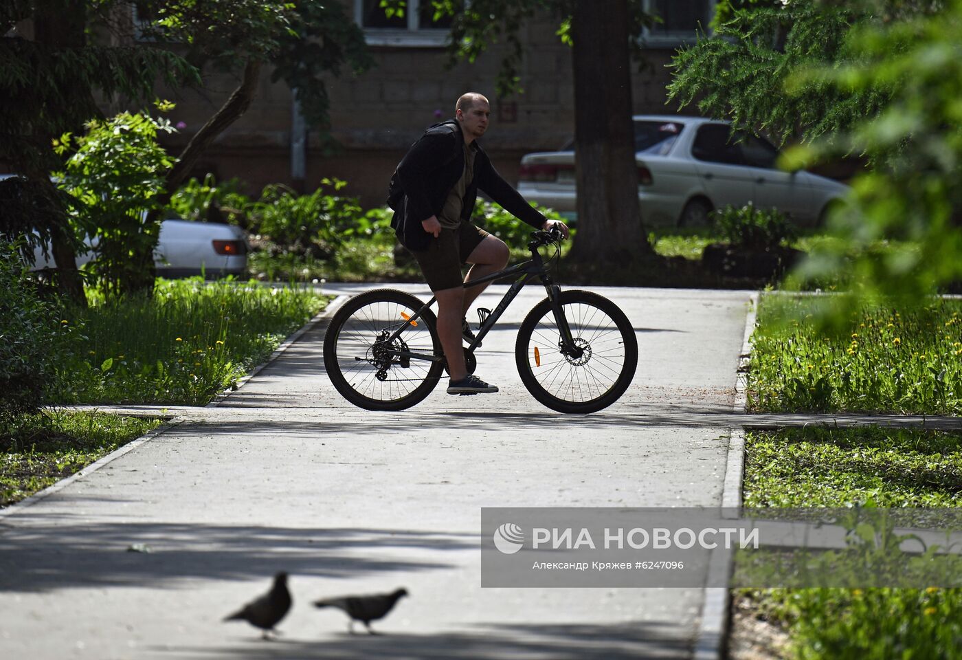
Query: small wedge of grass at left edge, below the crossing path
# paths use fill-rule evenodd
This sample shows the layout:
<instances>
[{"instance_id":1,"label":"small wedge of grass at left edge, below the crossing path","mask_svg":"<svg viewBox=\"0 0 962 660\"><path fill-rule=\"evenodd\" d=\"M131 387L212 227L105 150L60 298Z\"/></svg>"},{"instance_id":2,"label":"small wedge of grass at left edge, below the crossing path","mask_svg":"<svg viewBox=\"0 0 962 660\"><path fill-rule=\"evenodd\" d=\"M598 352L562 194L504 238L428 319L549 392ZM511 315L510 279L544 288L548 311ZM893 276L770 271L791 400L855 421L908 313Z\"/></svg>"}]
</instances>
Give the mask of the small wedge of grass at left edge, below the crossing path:
<instances>
[{"instance_id":1,"label":"small wedge of grass at left edge, below the crossing path","mask_svg":"<svg viewBox=\"0 0 962 660\"><path fill-rule=\"evenodd\" d=\"M160 425L158 419L47 411L0 422L0 506L89 466Z\"/></svg>"}]
</instances>

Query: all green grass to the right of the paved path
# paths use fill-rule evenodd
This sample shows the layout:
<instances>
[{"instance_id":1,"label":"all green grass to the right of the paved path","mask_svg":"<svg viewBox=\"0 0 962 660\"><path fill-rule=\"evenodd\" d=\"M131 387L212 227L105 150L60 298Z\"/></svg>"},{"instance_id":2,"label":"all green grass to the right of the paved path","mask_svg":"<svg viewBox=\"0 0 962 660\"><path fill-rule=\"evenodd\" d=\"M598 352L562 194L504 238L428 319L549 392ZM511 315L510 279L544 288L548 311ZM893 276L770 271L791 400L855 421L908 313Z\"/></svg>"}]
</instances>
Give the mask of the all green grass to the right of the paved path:
<instances>
[{"instance_id":1,"label":"all green grass to the right of the paved path","mask_svg":"<svg viewBox=\"0 0 962 660\"><path fill-rule=\"evenodd\" d=\"M862 312L841 337L816 330L817 304L763 298L748 381L753 410L958 414L960 301ZM956 508L962 435L814 427L751 432L744 500L749 507ZM787 632L790 657L799 660L962 657L962 590L923 586L740 590L737 597Z\"/></svg>"}]
</instances>

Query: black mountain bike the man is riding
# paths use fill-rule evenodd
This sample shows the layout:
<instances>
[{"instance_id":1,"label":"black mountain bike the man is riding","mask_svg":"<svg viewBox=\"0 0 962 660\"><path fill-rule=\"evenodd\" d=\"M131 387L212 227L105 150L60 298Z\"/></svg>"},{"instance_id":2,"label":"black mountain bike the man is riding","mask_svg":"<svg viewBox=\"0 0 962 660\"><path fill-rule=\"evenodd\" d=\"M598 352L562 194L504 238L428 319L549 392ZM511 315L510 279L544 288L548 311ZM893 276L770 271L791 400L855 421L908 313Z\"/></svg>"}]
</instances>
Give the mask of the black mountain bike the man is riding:
<instances>
[{"instance_id":1,"label":"black mountain bike the man is riding","mask_svg":"<svg viewBox=\"0 0 962 660\"><path fill-rule=\"evenodd\" d=\"M547 297L521 323L515 362L521 382L538 401L560 413L594 413L627 390L638 365L638 341L628 317L611 300L587 291L562 292L554 284L540 247L563 236L552 227L528 243L531 259L466 283L466 288L516 277L494 311L479 309L480 328L465 348L468 373L474 349L494 328L520 290L538 279ZM354 296L334 314L324 336L324 367L334 388L367 410L410 408L430 394L446 368L431 311L409 293L377 289Z\"/></svg>"}]
</instances>

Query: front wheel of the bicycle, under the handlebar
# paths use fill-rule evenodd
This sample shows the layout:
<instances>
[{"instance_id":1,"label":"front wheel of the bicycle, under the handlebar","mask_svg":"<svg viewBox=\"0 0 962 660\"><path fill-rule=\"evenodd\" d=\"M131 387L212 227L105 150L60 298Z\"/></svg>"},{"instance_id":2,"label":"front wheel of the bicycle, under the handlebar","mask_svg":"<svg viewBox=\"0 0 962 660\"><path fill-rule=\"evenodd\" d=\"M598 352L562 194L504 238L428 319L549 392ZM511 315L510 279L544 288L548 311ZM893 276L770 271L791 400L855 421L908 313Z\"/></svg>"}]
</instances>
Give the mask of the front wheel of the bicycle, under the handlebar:
<instances>
[{"instance_id":1,"label":"front wheel of the bicycle, under the handlebar","mask_svg":"<svg viewBox=\"0 0 962 660\"><path fill-rule=\"evenodd\" d=\"M577 358L561 350L561 330L544 298L518 331L515 361L521 382L536 399L559 413L595 413L617 401L635 376L638 340L631 321L611 300L593 292L561 292L562 309Z\"/></svg>"}]
</instances>

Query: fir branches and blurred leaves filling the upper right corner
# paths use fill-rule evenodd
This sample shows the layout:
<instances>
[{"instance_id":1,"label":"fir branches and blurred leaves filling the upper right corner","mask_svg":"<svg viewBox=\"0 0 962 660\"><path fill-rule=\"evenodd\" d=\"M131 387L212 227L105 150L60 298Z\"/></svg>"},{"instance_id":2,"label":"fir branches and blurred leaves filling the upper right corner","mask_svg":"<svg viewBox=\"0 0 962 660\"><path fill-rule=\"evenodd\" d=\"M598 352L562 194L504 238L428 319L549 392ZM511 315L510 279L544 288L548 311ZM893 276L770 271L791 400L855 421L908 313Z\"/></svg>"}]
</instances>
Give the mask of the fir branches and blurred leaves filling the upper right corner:
<instances>
[{"instance_id":1,"label":"fir branches and blurred leaves filling the upper right corner","mask_svg":"<svg viewBox=\"0 0 962 660\"><path fill-rule=\"evenodd\" d=\"M734 13L717 38L675 58L672 98L806 142L781 165L851 152L873 164L829 218L845 241L813 255L789 287L845 273L851 299L838 298L837 312L853 300L908 304L962 280L960 43L959 0L797 0ZM885 241L901 246L880 253Z\"/></svg>"}]
</instances>

